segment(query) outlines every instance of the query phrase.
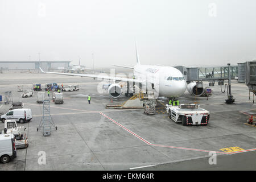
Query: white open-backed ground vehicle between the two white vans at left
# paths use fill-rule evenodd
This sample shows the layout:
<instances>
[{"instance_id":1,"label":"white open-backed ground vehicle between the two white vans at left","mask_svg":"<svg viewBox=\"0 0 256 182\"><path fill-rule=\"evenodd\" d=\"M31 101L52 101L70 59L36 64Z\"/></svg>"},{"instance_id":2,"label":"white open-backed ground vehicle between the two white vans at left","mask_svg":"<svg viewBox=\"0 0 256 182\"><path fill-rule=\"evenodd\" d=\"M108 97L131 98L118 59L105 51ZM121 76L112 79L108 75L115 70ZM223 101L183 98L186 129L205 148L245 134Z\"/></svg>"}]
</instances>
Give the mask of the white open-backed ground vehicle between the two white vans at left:
<instances>
[{"instance_id":1,"label":"white open-backed ground vehicle between the two white vans at left","mask_svg":"<svg viewBox=\"0 0 256 182\"><path fill-rule=\"evenodd\" d=\"M15 119L5 120L5 129L2 131L2 133L14 135L14 142L17 149L28 147L26 127L18 126Z\"/></svg>"}]
</instances>

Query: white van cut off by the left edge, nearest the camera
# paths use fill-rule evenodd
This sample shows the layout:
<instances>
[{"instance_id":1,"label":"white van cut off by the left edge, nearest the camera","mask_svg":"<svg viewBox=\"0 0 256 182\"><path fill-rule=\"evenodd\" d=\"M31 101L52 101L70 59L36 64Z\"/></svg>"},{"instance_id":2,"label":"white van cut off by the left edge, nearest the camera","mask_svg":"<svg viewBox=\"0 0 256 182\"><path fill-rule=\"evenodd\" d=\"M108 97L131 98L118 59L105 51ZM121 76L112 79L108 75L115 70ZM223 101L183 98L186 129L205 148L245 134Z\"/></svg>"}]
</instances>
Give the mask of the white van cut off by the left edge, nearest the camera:
<instances>
[{"instance_id":1,"label":"white van cut off by the left edge, nearest the camera","mask_svg":"<svg viewBox=\"0 0 256 182\"><path fill-rule=\"evenodd\" d=\"M16 146L13 134L0 134L0 162L8 163L16 157Z\"/></svg>"}]
</instances>

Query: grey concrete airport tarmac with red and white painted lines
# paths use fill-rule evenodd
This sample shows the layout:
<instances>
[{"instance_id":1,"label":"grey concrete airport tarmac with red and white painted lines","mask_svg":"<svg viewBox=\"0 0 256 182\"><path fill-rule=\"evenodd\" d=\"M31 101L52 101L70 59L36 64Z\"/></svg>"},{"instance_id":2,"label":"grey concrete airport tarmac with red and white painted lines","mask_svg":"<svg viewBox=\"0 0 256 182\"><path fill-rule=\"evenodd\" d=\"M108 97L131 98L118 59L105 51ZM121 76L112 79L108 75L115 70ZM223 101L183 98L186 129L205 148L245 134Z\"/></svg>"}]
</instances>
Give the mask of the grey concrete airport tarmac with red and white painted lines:
<instances>
[{"instance_id":1,"label":"grey concrete airport tarmac with red and white painted lines","mask_svg":"<svg viewBox=\"0 0 256 182\"><path fill-rule=\"evenodd\" d=\"M187 91L180 104L200 103L210 111L207 126L183 126L168 118L167 100L159 98L155 115L143 109L105 109L108 94L97 92L101 80L43 73L3 73L0 95L12 91L14 101L22 101L32 110L27 128L29 146L17 150L17 157L0 170L255 170L256 126L247 125L248 113L255 112L253 95L244 83L232 81L236 101L226 105L226 93L212 86L213 95L194 97ZM64 104L51 101L51 117L57 126L49 137L36 128L42 118L42 104L36 104L36 92L22 98L17 85L32 89L33 83L48 82L79 85L79 91L63 92ZM208 86L204 82L204 86ZM87 96L92 97L88 104ZM50 98L52 97L52 94ZM113 102L124 102L124 95ZM10 104L0 102L0 112L7 113ZM0 122L0 131L3 130ZM233 148L232 148L233 147ZM231 149L230 149L231 148ZM41 164L40 151L46 154ZM209 164L209 152L216 152L217 164Z\"/></svg>"}]
</instances>

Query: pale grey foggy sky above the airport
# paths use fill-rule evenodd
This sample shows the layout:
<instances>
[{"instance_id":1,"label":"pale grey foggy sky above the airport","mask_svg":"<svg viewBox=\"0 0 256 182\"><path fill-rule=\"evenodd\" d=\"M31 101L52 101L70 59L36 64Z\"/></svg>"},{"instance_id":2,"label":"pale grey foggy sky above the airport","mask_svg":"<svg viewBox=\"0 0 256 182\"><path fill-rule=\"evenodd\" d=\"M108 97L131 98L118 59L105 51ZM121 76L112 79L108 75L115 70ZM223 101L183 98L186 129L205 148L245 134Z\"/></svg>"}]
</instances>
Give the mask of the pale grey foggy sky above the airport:
<instances>
[{"instance_id":1,"label":"pale grey foggy sky above the airport","mask_svg":"<svg viewBox=\"0 0 256 182\"><path fill-rule=\"evenodd\" d=\"M215 3L216 16L209 15ZM0 0L0 61L86 67L226 65L256 59L256 1Z\"/></svg>"}]
</instances>

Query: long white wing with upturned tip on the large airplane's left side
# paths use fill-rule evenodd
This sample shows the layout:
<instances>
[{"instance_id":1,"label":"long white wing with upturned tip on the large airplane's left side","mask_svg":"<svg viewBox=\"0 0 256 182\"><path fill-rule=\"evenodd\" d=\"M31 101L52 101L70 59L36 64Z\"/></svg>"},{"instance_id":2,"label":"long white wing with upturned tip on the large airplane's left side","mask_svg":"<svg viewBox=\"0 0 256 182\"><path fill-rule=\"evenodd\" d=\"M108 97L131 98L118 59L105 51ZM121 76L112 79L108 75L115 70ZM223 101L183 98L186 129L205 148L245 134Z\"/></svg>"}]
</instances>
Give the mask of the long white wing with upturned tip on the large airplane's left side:
<instances>
[{"instance_id":1,"label":"long white wing with upturned tip on the large airplane's left side","mask_svg":"<svg viewBox=\"0 0 256 182\"><path fill-rule=\"evenodd\" d=\"M146 80L137 80L137 79L125 78L125 77L110 77L110 76L103 76L103 75L77 74L77 73L44 72L42 68L39 67L39 69L42 73L51 73L56 75L80 76L80 77L100 78L105 80L117 80L117 81L129 81L129 82L146 82Z\"/></svg>"}]
</instances>

